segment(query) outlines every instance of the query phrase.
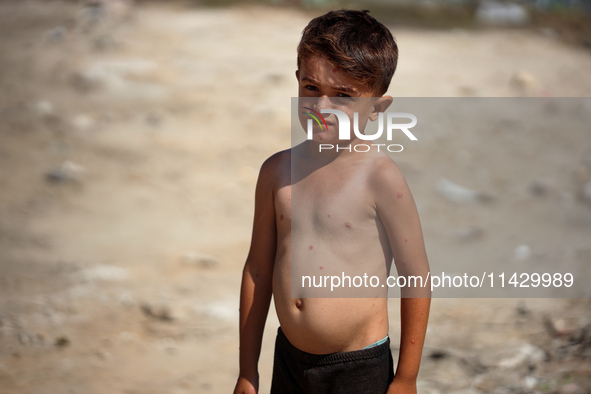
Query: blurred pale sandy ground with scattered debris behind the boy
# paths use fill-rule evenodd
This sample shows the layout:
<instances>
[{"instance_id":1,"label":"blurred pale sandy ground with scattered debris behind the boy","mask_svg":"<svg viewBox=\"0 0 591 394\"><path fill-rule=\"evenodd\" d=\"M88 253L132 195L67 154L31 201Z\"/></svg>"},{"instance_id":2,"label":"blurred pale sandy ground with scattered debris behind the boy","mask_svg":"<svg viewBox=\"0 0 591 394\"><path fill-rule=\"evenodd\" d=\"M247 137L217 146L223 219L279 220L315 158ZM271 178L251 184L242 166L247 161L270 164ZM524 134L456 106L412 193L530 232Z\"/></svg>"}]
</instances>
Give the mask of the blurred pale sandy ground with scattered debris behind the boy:
<instances>
[{"instance_id":1,"label":"blurred pale sandy ground with scattered debris behind the boy","mask_svg":"<svg viewBox=\"0 0 591 394\"><path fill-rule=\"evenodd\" d=\"M290 146L302 29L341 7L392 30L395 98L589 124L589 1L0 1L1 393L231 392L258 169ZM588 272L591 132L534 125L439 127L400 155L434 269ZM590 311L434 299L419 392L589 393Z\"/></svg>"}]
</instances>

